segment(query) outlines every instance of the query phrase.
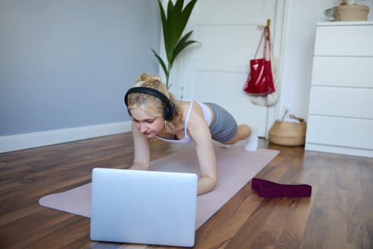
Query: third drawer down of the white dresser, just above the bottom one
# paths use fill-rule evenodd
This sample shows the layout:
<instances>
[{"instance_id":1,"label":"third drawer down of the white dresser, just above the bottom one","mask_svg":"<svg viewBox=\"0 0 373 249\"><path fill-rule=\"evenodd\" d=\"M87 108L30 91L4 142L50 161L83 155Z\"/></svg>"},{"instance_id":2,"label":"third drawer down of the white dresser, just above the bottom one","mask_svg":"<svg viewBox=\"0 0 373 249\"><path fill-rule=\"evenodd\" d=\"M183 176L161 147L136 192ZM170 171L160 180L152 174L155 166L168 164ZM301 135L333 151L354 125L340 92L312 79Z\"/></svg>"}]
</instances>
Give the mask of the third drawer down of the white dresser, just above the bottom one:
<instances>
[{"instance_id":1,"label":"third drawer down of the white dresser, just above the bottom one","mask_svg":"<svg viewBox=\"0 0 373 249\"><path fill-rule=\"evenodd\" d=\"M310 115L358 117L373 120L373 89L313 86ZM373 134L372 134L373 137Z\"/></svg>"}]
</instances>

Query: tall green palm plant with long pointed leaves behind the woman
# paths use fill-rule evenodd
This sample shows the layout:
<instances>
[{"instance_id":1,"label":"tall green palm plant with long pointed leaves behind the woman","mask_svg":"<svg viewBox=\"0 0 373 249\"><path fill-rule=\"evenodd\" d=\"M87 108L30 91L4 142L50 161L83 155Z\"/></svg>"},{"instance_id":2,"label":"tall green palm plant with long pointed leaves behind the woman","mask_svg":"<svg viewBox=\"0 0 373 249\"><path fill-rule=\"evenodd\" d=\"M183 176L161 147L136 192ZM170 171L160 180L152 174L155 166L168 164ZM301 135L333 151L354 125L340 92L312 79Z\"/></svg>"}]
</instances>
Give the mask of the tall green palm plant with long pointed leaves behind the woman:
<instances>
[{"instance_id":1,"label":"tall green palm plant with long pointed leaves behind the woman","mask_svg":"<svg viewBox=\"0 0 373 249\"><path fill-rule=\"evenodd\" d=\"M191 0L183 9L183 0L177 0L175 1L175 4L169 0L166 16L166 12L163 9L161 0L158 0L159 10L161 11L163 40L166 51L167 65L165 61L162 60L161 56L153 50L153 48L151 50L156 56L158 62L161 64L163 72L166 75L166 86L168 89L171 87L171 84L169 84L169 78L171 75L171 68L176 57L190 44L198 43L198 41L188 40L193 31L190 31L181 37L196 2L197 0Z\"/></svg>"}]
</instances>

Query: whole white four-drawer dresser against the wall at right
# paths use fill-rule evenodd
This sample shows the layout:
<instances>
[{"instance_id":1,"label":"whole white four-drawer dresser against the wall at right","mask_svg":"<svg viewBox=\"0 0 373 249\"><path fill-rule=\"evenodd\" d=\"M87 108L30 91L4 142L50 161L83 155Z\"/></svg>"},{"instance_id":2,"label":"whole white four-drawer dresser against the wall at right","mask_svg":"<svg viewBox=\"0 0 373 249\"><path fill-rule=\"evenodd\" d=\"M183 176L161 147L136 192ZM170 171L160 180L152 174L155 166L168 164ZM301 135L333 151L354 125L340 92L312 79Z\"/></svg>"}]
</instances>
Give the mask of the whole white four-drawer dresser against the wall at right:
<instances>
[{"instance_id":1,"label":"whole white four-drawer dresser against the wall at right","mask_svg":"<svg viewBox=\"0 0 373 249\"><path fill-rule=\"evenodd\" d=\"M318 23L306 150L373 157L373 21Z\"/></svg>"}]
</instances>

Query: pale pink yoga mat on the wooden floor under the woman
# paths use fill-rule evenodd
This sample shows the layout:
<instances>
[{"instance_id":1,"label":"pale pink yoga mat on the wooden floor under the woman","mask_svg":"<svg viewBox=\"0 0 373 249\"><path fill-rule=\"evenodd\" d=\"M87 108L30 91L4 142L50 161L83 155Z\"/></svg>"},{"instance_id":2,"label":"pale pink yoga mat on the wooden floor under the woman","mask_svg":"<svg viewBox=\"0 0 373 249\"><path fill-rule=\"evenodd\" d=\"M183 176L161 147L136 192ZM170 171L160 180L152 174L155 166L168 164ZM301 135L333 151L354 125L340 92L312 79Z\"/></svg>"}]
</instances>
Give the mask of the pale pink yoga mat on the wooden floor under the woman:
<instances>
[{"instance_id":1,"label":"pale pink yoga mat on the wooden floor under the woman","mask_svg":"<svg viewBox=\"0 0 373 249\"><path fill-rule=\"evenodd\" d=\"M215 153L218 184L214 191L202 194L197 198L196 230L274 159L279 151L258 149L256 152L247 152L244 151L242 145L234 145L229 149L215 146ZM152 161L151 170L199 174L195 149L186 149ZM44 196L40 198L39 203L48 208L90 217L91 184L85 184L63 193Z\"/></svg>"}]
</instances>

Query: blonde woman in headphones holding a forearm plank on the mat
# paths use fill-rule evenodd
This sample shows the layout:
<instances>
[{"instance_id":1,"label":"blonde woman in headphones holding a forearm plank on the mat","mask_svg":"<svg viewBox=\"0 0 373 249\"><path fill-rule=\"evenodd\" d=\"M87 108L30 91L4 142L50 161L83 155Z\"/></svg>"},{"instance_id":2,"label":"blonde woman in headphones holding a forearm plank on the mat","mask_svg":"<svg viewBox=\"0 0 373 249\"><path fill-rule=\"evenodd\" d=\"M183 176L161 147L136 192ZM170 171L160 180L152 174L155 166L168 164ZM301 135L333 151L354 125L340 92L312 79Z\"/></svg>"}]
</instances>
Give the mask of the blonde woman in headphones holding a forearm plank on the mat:
<instances>
[{"instance_id":1,"label":"blonde woman in headphones holding a forearm plank on the mat","mask_svg":"<svg viewBox=\"0 0 373 249\"><path fill-rule=\"evenodd\" d=\"M212 140L234 144L248 139L246 150L256 150L258 138L247 124L236 121L222 107L212 103L176 100L156 75L143 73L124 97L131 115L134 137L134 165L131 169L148 170L149 138L166 142L195 143L200 164L198 194L215 189L216 160Z\"/></svg>"}]
</instances>

